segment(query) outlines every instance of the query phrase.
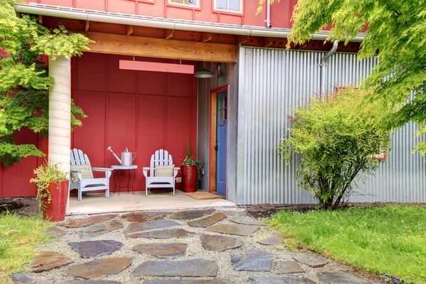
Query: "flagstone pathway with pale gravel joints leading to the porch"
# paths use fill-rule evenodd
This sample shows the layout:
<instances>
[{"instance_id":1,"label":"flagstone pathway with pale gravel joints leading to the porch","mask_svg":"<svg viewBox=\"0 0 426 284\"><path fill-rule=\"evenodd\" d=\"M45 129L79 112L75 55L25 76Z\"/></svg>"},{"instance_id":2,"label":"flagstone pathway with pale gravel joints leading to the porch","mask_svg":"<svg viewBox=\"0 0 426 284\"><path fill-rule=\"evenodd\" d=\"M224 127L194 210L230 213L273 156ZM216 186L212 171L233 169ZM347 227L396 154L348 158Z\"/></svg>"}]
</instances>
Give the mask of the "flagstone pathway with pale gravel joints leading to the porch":
<instances>
[{"instance_id":1,"label":"flagstone pathway with pale gravel joints leading to the porch","mask_svg":"<svg viewBox=\"0 0 426 284\"><path fill-rule=\"evenodd\" d=\"M288 251L241 209L68 217L14 283L378 283L306 251Z\"/></svg>"}]
</instances>

